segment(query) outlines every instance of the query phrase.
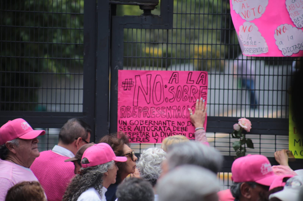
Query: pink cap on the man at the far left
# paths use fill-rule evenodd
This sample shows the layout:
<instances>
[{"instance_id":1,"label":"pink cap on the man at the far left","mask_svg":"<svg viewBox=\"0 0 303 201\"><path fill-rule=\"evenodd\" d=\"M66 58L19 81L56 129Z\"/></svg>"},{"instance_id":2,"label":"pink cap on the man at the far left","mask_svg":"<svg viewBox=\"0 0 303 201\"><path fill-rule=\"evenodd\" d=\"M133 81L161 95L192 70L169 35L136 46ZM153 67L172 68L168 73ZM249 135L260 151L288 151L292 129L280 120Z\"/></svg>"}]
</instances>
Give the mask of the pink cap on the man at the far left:
<instances>
[{"instance_id":1,"label":"pink cap on the man at the far left","mask_svg":"<svg viewBox=\"0 0 303 201\"><path fill-rule=\"evenodd\" d=\"M44 130L33 130L24 119L14 119L0 128L0 145L17 138L31 140L44 134Z\"/></svg>"}]
</instances>

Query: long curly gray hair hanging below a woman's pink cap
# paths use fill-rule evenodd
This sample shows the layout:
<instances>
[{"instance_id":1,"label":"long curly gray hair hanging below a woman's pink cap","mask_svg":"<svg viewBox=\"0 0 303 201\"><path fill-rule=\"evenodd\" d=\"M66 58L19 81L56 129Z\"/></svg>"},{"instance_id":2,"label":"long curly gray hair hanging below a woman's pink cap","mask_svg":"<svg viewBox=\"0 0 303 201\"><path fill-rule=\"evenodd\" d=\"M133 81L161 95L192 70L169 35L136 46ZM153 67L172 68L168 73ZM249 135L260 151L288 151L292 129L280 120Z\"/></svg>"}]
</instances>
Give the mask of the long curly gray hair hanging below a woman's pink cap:
<instances>
[{"instance_id":1,"label":"long curly gray hair hanging below a woman's pink cap","mask_svg":"<svg viewBox=\"0 0 303 201\"><path fill-rule=\"evenodd\" d=\"M88 164L87 158L82 159L82 164ZM80 168L77 174L67 186L62 201L77 201L80 195L88 188L93 187L102 198L103 175L115 165L114 161L99 164L92 167Z\"/></svg>"}]
</instances>

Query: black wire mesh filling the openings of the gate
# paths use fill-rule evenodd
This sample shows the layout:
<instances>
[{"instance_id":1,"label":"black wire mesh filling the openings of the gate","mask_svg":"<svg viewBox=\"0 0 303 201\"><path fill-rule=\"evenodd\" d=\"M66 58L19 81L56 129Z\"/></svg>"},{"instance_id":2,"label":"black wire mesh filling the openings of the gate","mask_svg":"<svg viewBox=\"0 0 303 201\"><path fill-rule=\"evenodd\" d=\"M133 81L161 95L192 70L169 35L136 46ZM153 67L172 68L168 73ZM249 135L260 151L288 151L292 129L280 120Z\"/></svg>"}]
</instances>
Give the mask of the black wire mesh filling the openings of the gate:
<instances>
[{"instance_id":1,"label":"black wire mesh filling the openings of the gate","mask_svg":"<svg viewBox=\"0 0 303 201\"><path fill-rule=\"evenodd\" d=\"M118 6L117 15L136 13L142 11ZM159 6L152 13L160 15ZM83 52L84 0L1 0L0 111L82 112ZM229 0L174 0L173 29L124 29L124 69L208 71L208 116L288 118L287 91L299 62L241 56ZM40 151L58 143L60 130L44 129ZM230 134L207 137L222 155L235 156ZM247 137L251 154L273 157L288 148L288 136ZM160 146L131 144L137 154ZM230 176L219 173L222 189Z\"/></svg>"}]
</instances>

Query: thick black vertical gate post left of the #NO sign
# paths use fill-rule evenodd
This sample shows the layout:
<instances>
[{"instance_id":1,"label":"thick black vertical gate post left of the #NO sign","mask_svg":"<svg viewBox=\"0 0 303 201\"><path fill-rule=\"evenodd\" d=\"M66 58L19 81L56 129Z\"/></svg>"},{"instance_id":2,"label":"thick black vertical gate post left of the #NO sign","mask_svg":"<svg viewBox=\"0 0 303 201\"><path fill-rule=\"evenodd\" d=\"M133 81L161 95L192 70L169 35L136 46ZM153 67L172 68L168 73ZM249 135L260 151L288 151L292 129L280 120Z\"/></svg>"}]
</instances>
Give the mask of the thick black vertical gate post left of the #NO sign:
<instances>
[{"instance_id":1,"label":"thick black vertical gate post left of the #NO sign","mask_svg":"<svg viewBox=\"0 0 303 201\"><path fill-rule=\"evenodd\" d=\"M106 1L106 0L102 0ZM108 132L108 93L102 94L103 91L108 91L108 68L102 68L102 71L96 71L96 60L99 60L99 65L102 63L105 67L108 67L108 56L103 54L108 54L108 49L106 47L100 47L100 57L96 59L96 36L97 28L103 30L99 33L99 36L105 37L108 32L105 27L96 27L97 22L97 5L95 1L85 1L84 4L84 63L83 63L83 114L84 121L89 124L92 131L91 141L96 142L97 139L101 138L100 134ZM105 12L105 11L103 11ZM100 13L100 15L103 14ZM99 17L99 16L98 16ZM105 16L106 17L106 14ZM101 17L101 18L103 18ZM104 18L105 19L105 18ZM101 20L100 23L106 23L109 20ZM103 24L104 25L104 24ZM102 26L102 24L100 25ZM105 42L108 40L105 40ZM100 43L98 43L100 44ZM108 47L108 46L107 46ZM104 48L104 49L103 49ZM100 76L98 80L98 87L96 88L96 74ZM103 75L104 74L104 75ZM103 77L102 77L103 75ZM100 99L97 99L96 94L100 94ZM99 101L99 104L95 104L95 101ZM97 106L99 105L99 106ZM101 106L101 107L100 107ZM98 112L97 112L98 111ZM96 113L95 113L96 112ZM96 116L95 116L96 115ZM96 117L96 118L95 118ZM99 132L97 132L97 130Z\"/></svg>"}]
</instances>

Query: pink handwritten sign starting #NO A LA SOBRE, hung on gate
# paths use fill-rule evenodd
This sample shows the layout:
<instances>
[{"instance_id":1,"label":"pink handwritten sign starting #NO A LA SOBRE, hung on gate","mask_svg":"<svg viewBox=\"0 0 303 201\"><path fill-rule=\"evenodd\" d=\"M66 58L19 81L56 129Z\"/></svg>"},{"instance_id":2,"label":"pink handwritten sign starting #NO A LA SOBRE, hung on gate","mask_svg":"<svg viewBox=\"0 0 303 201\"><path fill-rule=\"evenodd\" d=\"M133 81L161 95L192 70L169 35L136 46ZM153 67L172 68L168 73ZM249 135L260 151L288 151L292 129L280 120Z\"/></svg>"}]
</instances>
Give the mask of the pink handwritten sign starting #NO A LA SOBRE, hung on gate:
<instances>
[{"instance_id":1,"label":"pink handwritten sign starting #NO A LA SOBRE, hung on gate","mask_svg":"<svg viewBox=\"0 0 303 201\"><path fill-rule=\"evenodd\" d=\"M207 86L207 72L119 70L117 130L130 143L162 143L172 135L194 139L188 109L195 112L201 97L206 103Z\"/></svg>"}]
</instances>

